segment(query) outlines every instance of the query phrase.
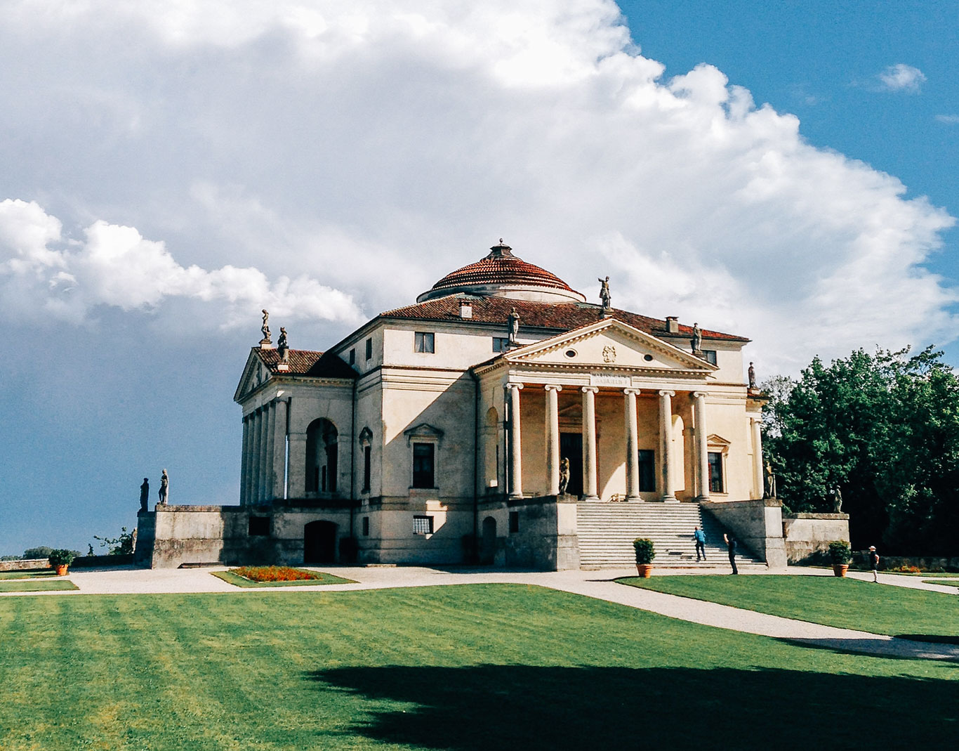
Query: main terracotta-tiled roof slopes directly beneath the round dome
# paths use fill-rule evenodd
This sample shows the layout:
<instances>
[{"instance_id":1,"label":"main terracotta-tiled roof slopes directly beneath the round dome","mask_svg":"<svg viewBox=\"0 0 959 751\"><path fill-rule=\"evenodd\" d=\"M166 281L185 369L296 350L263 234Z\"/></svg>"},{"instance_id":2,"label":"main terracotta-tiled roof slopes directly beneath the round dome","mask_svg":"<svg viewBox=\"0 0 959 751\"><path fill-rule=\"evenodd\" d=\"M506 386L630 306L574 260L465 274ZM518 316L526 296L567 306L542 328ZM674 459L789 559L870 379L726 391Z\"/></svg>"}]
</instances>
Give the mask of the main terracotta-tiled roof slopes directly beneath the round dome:
<instances>
[{"instance_id":1,"label":"main terracotta-tiled roof slopes directly beneath the round dome","mask_svg":"<svg viewBox=\"0 0 959 751\"><path fill-rule=\"evenodd\" d=\"M473 303L473 317L459 317L459 301L468 300ZM512 308L516 308L520 317L521 327L550 329L556 332L571 331L580 326L593 323L600 317L601 308L586 302L533 302L517 300L510 297L480 297L469 294L448 294L445 297L434 297L415 305L395 308L381 313L381 318L403 318L409 320L456 321L457 323L498 323L505 331L506 320ZM679 334L667 333L666 321L660 318L641 316L638 313L613 309L613 317L628 323L630 326L651 334L654 337L671 339L676 337L691 337L692 327L680 325ZM703 338L727 341L749 341L745 337L734 334L723 334L718 331L703 329Z\"/></svg>"}]
</instances>

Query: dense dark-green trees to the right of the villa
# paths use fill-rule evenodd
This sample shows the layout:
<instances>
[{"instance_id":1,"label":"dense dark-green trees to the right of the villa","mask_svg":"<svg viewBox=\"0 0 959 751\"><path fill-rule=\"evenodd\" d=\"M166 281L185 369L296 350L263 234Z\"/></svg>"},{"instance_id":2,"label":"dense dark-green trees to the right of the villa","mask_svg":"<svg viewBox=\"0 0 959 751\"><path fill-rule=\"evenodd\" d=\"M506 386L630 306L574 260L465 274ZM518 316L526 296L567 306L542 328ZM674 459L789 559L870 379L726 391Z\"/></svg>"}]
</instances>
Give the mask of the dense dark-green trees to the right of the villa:
<instances>
[{"instance_id":1,"label":"dense dark-green trees to the right of the villa","mask_svg":"<svg viewBox=\"0 0 959 751\"><path fill-rule=\"evenodd\" d=\"M764 445L784 503L851 514L855 547L956 553L959 378L932 347L864 350L764 384Z\"/></svg>"}]
</instances>

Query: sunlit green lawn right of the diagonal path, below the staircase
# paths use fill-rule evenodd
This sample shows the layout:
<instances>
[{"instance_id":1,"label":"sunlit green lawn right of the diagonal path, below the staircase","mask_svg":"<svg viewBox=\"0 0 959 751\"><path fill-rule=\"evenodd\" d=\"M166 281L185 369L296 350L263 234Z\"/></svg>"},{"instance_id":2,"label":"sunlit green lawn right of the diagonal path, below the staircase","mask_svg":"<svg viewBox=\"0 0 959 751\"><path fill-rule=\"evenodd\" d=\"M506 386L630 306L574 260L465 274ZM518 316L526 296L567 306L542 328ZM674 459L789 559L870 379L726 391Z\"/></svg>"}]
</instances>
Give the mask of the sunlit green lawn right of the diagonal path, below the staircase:
<instances>
[{"instance_id":1,"label":"sunlit green lawn right of the diagonal path, below the staircase","mask_svg":"<svg viewBox=\"0 0 959 751\"><path fill-rule=\"evenodd\" d=\"M943 641L959 636L959 600L943 592L836 576L653 576L620 582L874 634L942 636Z\"/></svg>"}]
</instances>

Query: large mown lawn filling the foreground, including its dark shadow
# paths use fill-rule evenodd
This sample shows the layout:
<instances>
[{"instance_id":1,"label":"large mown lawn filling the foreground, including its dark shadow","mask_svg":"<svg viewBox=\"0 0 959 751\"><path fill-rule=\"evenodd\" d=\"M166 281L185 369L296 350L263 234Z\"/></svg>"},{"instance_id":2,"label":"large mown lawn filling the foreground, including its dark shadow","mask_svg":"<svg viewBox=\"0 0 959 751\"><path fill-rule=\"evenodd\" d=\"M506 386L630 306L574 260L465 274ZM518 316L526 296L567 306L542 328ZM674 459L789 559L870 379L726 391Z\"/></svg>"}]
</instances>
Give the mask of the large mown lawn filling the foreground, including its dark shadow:
<instances>
[{"instance_id":1,"label":"large mown lawn filling the foreground, including its dark shadow","mask_svg":"<svg viewBox=\"0 0 959 751\"><path fill-rule=\"evenodd\" d=\"M2 598L0 634L4 751L944 748L959 727L953 664L522 585Z\"/></svg>"}]
</instances>

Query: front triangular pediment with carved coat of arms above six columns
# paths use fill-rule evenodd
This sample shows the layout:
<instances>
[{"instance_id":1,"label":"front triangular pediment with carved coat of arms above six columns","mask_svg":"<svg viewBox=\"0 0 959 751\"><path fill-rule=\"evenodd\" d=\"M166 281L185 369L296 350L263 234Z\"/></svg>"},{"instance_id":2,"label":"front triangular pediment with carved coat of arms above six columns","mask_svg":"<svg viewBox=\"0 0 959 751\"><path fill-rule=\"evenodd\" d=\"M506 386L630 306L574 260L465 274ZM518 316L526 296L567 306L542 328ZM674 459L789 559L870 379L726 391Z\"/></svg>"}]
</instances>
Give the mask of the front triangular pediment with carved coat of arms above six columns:
<instances>
[{"instance_id":1,"label":"front triangular pediment with carved coat of arms above six columns","mask_svg":"<svg viewBox=\"0 0 959 751\"><path fill-rule=\"evenodd\" d=\"M690 352L646 334L616 318L605 318L547 340L514 349L509 363L640 370L716 370Z\"/></svg>"}]
</instances>

